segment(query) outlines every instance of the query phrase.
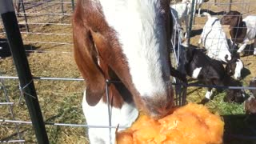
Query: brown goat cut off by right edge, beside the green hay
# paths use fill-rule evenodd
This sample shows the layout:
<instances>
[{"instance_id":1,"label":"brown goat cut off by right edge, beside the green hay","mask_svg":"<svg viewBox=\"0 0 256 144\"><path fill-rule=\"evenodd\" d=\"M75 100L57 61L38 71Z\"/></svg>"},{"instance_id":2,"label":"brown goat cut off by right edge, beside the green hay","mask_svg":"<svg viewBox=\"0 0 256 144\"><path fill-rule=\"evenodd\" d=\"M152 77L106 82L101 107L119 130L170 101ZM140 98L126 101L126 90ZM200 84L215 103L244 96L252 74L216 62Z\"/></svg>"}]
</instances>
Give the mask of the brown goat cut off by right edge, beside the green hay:
<instances>
[{"instance_id":1,"label":"brown goat cut off by right edge, beside the green hay","mask_svg":"<svg viewBox=\"0 0 256 144\"><path fill-rule=\"evenodd\" d=\"M256 88L256 78L250 80L249 86ZM244 102L244 109L246 113L256 114L256 90L250 90L250 93L250 98Z\"/></svg>"}]
</instances>

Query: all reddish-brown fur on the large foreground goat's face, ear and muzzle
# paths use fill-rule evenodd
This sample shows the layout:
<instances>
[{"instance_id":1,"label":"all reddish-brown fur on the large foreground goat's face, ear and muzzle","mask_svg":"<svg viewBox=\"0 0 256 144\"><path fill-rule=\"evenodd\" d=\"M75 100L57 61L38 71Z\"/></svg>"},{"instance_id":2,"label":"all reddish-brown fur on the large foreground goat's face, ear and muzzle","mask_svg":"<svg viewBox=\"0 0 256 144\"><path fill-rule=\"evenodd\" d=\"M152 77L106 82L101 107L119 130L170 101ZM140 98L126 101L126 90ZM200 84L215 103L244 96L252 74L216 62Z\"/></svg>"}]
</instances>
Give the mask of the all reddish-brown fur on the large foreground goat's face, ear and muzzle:
<instances>
[{"instance_id":1,"label":"all reddish-brown fur on the large foreground goat's face, ear and muzzle","mask_svg":"<svg viewBox=\"0 0 256 144\"><path fill-rule=\"evenodd\" d=\"M165 23L167 38L171 38L173 23L170 22L170 0L162 0L162 7L166 11ZM73 17L74 58L83 78L86 80L86 101L95 106L103 97L106 102L106 79L121 81L109 86L110 102L112 106L121 107L124 101L134 101L138 109L150 113L151 107L160 107L159 111L166 111L172 105L174 96L172 87L168 88L165 101L158 99L143 100L131 82L126 58L122 54L121 46L115 31L107 25L101 6L92 6L90 0L78 0ZM167 61L170 63L170 41L167 40ZM99 65L98 65L99 60ZM170 66L171 68L171 66ZM172 71L172 73L174 70ZM170 75L163 75L164 79ZM148 106L149 103L153 106ZM166 103L171 103L166 105Z\"/></svg>"}]
</instances>

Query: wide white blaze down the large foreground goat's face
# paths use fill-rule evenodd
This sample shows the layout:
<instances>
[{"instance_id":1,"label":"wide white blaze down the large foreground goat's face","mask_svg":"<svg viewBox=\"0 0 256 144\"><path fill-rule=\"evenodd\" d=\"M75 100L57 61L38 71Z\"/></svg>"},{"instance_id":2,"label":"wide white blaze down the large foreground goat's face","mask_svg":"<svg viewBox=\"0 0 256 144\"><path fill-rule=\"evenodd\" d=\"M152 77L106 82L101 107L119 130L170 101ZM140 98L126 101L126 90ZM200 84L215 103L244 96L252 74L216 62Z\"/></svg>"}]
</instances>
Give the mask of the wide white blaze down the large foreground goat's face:
<instances>
[{"instance_id":1,"label":"wide white blaze down the large foreground goat's face","mask_svg":"<svg viewBox=\"0 0 256 144\"><path fill-rule=\"evenodd\" d=\"M166 51L164 10L159 0L99 0L103 14L118 33L130 68L132 82L142 97L166 93L162 70L170 74L163 59ZM163 67L162 67L163 66Z\"/></svg>"}]
</instances>

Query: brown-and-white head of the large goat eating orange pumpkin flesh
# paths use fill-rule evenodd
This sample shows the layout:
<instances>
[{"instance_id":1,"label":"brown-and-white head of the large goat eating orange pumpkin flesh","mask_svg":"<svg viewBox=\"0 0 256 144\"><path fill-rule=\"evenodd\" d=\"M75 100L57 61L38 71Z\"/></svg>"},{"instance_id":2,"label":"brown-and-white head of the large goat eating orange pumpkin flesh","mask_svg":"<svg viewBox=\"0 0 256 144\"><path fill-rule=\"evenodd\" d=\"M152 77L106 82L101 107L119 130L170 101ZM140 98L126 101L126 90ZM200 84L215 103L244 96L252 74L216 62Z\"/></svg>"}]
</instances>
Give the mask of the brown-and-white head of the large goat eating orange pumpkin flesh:
<instances>
[{"instance_id":1,"label":"brown-and-white head of the large goat eating orange pumpkin flesh","mask_svg":"<svg viewBox=\"0 0 256 144\"><path fill-rule=\"evenodd\" d=\"M113 70L139 110L153 118L173 102L170 83L170 0L78 0L73 17L74 58L95 106ZM103 67L107 69L103 69Z\"/></svg>"}]
</instances>

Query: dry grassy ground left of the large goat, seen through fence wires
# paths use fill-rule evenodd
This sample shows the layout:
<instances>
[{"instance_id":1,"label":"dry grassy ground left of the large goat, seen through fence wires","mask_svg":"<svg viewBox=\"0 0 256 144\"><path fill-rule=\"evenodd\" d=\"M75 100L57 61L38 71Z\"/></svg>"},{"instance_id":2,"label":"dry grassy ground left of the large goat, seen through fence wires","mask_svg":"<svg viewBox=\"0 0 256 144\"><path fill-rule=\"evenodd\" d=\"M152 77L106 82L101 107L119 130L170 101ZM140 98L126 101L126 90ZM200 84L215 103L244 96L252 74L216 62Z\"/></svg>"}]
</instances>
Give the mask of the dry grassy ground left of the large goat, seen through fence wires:
<instances>
[{"instance_id":1,"label":"dry grassy ground left of the large goat, seen through fence wires","mask_svg":"<svg viewBox=\"0 0 256 144\"><path fill-rule=\"evenodd\" d=\"M59 1L53 1L59 2ZM68 1L70 2L70 1ZM70 5L64 5L65 13L71 13ZM60 6L54 5L46 7L46 4L27 10L26 12L53 13L60 10ZM68 11L69 10L69 11ZM60 11L59 11L60 12ZM24 22L23 18L18 18L19 22ZM70 23L69 16L31 16L28 22L42 23ZM21 31L26 31L22 27ZM36 77L50 78L81 78L72 53L72 29L71 26L56 25L30 25L30 32L51 33L45 34L22 34L26 50L36 50L28 53L31 73ZM66 34L66 35L55 35ZM4 38L4 36L0 35ZM33 42L33 43L30 43ZM70 45L52 45L34 42L68 42ZM48 51L41 53L42 51ZM37 52L38 51L38 52ZM62 53L67 52L67 53ZM16 71L11 58L0 60L0 75L16 76ZM82 114L82 92L84 82L76 81L51 81L34 80L43 118L46 122L86 124ZM30 121L28 110L25 105L18 105L19 90L18 81L6 79L5 87L10 97L10 102L14 102L14 114L17 120ZM0 102L6 102L3 91L0 90ZM24 103L24 100L22 100ZM0 119L11 119L7 106L0 106ZM19 125L22 131L22 139L26 143L36 143L34 130L31 125ZM46 126L50 143L88 143L85 127L70 126ZM2 138L18 139L14 124L3 122L0 126L0 140Z\"/></svg>"}]
</instances>

